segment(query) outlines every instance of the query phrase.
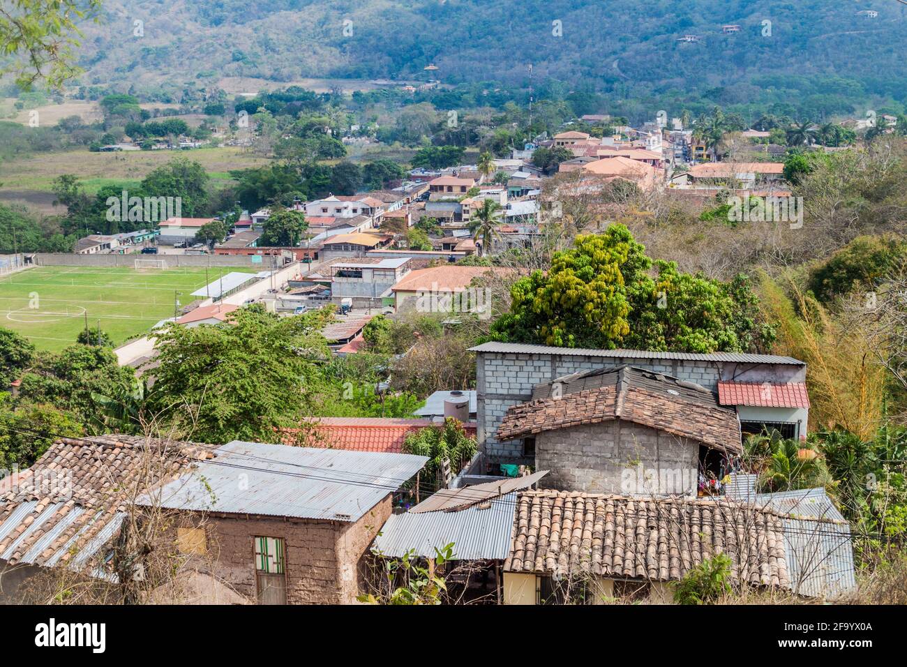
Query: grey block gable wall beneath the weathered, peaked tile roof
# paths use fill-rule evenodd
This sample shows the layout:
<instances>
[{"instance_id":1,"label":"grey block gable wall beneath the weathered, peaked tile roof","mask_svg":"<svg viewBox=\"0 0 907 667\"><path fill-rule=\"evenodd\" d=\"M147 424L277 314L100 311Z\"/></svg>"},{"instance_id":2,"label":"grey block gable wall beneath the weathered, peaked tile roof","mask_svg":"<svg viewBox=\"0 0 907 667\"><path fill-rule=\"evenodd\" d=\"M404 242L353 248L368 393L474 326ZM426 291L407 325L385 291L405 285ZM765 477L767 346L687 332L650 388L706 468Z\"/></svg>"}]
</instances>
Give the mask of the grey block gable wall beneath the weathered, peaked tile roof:
<instances>
[{"instance_id":1,"label":"grey block gable wall beneath the weathered, peaked tile roof","mask_svg":"<svg viewBox=\"0 0 907 667\"><path fill-rule=\"evenodd\" d=\"M699 443L616 420L545 431L535 463L542 488L615 495L696 493Z\"/></svg>"}]
</instances>

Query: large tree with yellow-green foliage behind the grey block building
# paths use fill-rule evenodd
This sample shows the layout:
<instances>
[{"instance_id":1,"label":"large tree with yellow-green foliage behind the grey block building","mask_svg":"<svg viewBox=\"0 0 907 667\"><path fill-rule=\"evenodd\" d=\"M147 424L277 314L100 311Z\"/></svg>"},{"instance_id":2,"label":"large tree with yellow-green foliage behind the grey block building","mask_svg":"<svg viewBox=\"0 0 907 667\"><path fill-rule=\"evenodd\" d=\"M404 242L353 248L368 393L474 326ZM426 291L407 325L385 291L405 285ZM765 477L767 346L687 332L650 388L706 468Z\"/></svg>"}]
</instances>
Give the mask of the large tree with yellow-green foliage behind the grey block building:
<instances>
[{"instance_id":1,"label":"large tree with yellow-green foliage behind the grey block building","mask_svg":"<svg viewBox=\"0 0 907 667\"><path fill-rule=\"evenodd\" d=\"M655 275L652 275L652 270ZM629 230L580 235L511 289L493 338L567 348L688 352L764 348L774 337L757 316L745 276L722 282L651 260Z\"/></svg>"}]
</instances>

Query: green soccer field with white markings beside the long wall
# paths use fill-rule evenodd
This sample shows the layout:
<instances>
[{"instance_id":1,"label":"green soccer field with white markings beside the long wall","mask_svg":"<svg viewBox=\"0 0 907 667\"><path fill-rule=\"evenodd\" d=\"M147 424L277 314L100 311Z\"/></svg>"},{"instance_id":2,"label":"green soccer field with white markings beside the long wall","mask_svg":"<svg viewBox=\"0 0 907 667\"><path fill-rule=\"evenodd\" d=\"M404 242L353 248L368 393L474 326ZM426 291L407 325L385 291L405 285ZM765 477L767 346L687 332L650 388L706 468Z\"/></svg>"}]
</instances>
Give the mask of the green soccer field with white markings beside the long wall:
<instances>
[{"instance_id":1,"label":"green soccer field with white markings beside the long wall","mask_svg":"<svg viewBox=\"0 0 907 667\"><path fill-rule=\"evenodd\" d=\"M39 349L59 351L75 342L79 331L101 329L120 345L127 338L172 318L179 299L185 306L204 287L206 269L122 267L34 267L0 279L0 326L32 340ZM213 282L234 267L209 267Z\"/></svg>"}]
</instances>

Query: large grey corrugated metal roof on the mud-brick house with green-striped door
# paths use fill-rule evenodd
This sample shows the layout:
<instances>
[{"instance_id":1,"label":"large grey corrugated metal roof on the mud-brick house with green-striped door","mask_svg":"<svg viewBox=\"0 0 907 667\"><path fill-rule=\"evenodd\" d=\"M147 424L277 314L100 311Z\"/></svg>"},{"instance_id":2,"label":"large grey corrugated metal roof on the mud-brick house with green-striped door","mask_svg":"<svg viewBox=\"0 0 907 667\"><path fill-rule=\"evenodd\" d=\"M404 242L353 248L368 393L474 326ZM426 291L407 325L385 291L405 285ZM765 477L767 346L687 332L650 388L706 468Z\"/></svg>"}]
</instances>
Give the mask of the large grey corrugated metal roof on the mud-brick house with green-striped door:
<instances>
[{"instance_id":1,"label":"large grey corrugated metal roof on the mud-brick house with green-striped door","mask_svg":"<svg viewBox=\"0 0 907 667\"><path fill-rule=\"evenodd\" d=\"M159 493L171 509L353 522L427 460L234 440Z\"/></svg>"}]
</instances>

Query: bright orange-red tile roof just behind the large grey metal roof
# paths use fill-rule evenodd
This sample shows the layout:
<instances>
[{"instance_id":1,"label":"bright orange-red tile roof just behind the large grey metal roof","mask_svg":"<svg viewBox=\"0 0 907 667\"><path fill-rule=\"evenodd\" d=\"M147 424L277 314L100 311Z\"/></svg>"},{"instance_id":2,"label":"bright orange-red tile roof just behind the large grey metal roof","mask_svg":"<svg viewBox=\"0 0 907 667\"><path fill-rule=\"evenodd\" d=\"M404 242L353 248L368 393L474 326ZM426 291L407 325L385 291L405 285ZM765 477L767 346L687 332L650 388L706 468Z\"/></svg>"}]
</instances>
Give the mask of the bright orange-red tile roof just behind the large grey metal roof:
<instances>
[{"instance_id":1,"label":"bright orange-red tile roof just behind the large grey metal roof","mask_svg":"<svg viewBox=\"0 0 907 667\"><path fill-rule=\"evenodd\" d=\"M310 446L325 446L357 452L389 452L399 454L410 433L430 427L431 419L399 419L385 417L317 417L317 434L323 442ZM437 425L435 425L437 426ZM475 436L475 423L463 424L467 436Z\"/></svg>"}]
</instances>

